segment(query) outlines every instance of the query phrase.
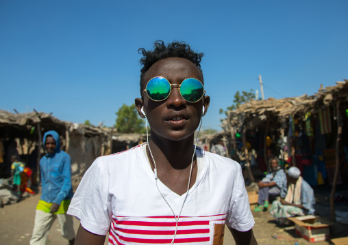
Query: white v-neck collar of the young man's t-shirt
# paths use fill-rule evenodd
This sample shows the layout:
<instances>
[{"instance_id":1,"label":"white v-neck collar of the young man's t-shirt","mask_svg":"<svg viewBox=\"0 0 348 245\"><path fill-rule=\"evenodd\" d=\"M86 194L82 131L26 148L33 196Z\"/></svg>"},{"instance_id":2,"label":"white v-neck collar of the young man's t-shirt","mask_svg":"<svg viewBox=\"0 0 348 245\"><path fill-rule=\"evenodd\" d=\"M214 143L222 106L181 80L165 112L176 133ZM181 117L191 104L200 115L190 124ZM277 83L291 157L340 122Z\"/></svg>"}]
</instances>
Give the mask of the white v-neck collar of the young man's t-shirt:
<instances>
[{"instance_id":1,"label":"white v-neck collar of the young man's t-shirt","mask_svg":"<svg viewBox=\"0 0 348 245\"><path fill-rule=\"evenodd\" d=\"M142 167L144 168L144 172L147 173L147 175L151 179L153 179L154 188L156 188L155 173L153 173L153 171L151 169L149 158L147 157L146 145L147 145L147 143L142 143L142 145L141 145L141 149L140 149L140 155L141 155L140 158L142 158L141 163L142 163ZM195 146L193 146L193 147L195 147ZM199 171L199 173L197 171L198 176L196 177L195 184L193 184L193 186L190 188L190 190L188 190L188 196L190 195L190 193L192 193L195 190L195 188L197 188L197 186L201 182L201 179L203 179L204 175L206 175L206 171L208 169L208 167L207 167L208 162L204 161L202 149L198 146L196 149L196 158L197 158L197 167L199 164L199 166L201 166L201 171ZM173 190L171 190L165 184L163 184L163 182L161 182L161 180L159 178L157 179L157 185L158 185L158 188L160 189L161 194L164 197L170 197L170 198L178 199L178 200L186 198L187 192L185 192L182 195L179 195L179 194L173 192Z\"/></svg>"}]
</instances>

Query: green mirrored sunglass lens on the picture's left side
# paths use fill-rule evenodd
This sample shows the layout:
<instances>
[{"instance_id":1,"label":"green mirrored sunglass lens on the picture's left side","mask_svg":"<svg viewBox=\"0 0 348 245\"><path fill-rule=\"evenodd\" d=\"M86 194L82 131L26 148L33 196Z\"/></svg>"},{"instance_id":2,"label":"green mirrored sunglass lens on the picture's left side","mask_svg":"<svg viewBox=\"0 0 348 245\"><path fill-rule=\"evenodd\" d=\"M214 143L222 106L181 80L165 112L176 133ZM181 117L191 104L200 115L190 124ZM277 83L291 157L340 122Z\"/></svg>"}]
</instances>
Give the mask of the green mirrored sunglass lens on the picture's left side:
<instances>
[{"instance_id":1,"label":"green mirrored sunglass lens on the picture's left side","mask_svg":"<svg viewBox=\"0 0 348 245\"><path fill-rule=\"evenodd\" d=\"M152 100L165 100L171 92L171 85L164 77L154 77L147 83L146 92Z\"/></svg>"}]
</instances>

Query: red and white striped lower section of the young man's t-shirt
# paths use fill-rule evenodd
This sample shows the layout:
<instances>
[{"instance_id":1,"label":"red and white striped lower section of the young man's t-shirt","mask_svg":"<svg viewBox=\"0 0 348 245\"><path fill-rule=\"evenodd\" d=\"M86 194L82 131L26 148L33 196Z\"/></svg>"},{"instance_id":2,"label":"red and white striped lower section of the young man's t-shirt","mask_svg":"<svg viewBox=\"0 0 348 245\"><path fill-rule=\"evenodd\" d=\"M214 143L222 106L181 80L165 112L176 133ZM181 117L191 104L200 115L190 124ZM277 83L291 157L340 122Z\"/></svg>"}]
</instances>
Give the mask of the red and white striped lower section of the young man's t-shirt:
<instances>
[{"instance_id":1,"label":"red and white striped lower section of the young man's t-shirt","mask_svg":"<svg viewBox=\"0 0 348 245\"><path fill-rule=\"evenodd\" d=\"M226 214L179 218L175 244L209 244L214 222L225 222ZM175 234L174 216L112 216L110 244L171 244Z\"/></svg>"}]
</instances>

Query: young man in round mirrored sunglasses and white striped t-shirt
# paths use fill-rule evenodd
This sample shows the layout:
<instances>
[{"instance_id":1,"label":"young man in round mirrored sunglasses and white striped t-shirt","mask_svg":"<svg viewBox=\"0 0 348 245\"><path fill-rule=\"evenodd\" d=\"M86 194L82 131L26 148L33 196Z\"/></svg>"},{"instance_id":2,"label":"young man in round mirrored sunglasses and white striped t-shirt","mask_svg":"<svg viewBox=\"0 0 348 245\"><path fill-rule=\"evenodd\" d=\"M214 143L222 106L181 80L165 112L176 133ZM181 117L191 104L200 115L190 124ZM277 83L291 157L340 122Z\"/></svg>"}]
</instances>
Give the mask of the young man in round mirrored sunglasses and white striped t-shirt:
<instances>
[{"instance_id":1,"label":"young man in round mirrored sunglasses and white striped t-shirt","mask_svg":"<svg viewBox=\"0 0 348 245\"><path fill-rule=\"evenodd\" d=\"M210 103L202 53L184 42L155 42L144 56L136 109L151 140L97 158L68 214L81 220L75 244L223 244L225 224L236 244L257 244L242 170L229 158L193 145Z\"/></svg>"}]
</instances>

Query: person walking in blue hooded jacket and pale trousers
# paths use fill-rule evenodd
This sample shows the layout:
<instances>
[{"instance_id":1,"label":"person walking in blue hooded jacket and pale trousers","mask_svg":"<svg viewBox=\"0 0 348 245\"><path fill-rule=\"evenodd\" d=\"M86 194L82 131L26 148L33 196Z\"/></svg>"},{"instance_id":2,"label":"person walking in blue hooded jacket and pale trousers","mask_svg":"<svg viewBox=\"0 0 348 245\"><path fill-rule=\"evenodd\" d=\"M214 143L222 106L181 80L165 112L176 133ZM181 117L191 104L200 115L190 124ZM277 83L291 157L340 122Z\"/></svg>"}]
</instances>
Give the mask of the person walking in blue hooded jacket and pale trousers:
<instances>
[{"instance_id":1,"label":"person walking in blue hooded jacket and pale trousers","mask_svg":"<svg viewBox=\"0 0 348 245\"><path fill-rule=\"evenodd\" d=\"M71 186L71 159L69 154L60 150L58 132L48 131L43 136L47 154L40 160L42 194L36 206L34 231L30 245L45 245L49 230L58 218L62 236L75 242L73 217L66 215L73 188Z\"/></svg>"}]
</instances>

